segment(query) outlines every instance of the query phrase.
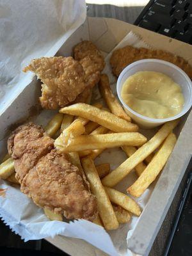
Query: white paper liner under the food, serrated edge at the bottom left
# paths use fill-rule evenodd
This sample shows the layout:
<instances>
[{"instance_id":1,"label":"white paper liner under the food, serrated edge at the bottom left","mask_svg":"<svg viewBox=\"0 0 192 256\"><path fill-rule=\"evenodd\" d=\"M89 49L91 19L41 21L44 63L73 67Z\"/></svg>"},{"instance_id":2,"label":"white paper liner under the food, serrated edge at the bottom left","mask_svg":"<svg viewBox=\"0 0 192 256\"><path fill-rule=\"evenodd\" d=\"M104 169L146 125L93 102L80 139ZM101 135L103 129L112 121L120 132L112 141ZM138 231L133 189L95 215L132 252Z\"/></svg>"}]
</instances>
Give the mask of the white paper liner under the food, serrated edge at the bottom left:
<instances>
[{"instance_id":1,"label":"white paper liner under the food, serrated edge at the bottom left","mask_svg":"<svg viewBox=\"0 0 192 256\"><path fill-rule=\"evenodd\" d=\"M128 44L134 47L149 47L149 45L142 42L137 35L130 32L125 36L122 42L115 47L115 49ZM106 57L106 68L104 69L104 72L108 74L111 87L116 94L116 79L111 74L111 68L109 67L110 56L111 52ZM94 97L95 99L100 100L98 88L95 89ZM50 112L42 111L40 116L33 118L33 121L37 124L45 125L47 115L51 118ZM148 138L154 134L154 131L151 130L147 130L147 133L146 131L142 132L148 136ZM110 163L111 170L113 170L125 161L125 159L127 159L127 156L120 150L120 148L112 148L105 150L99 157L97 157L95 163ZM136 180L136 174L133 171L115 188L126 193L127 187L132 184L134 180ZM137 199L141 209L147 204L153 187L154 184L152 184L152 186ZM0 216L4 220L4 223L9 225L10 228L12 228L12 231L19 234L24 241L54 237L60 234L61 236L84 239L109 255L130 255L131 252L127 250L126 239L131 236L132 230L136 227L136 223L139 220L138 217L132 216L129 223L120 225L117 230L111 230L109 232L106 232L104 228L85 220L70 221L69 223L64 221L48 221L42 209L33 204L31 199L21 193L19 187L10 186L6 181L1 180L0 188L7 188L6 196L0 196Z\"/></svg>"}]
</instances>

